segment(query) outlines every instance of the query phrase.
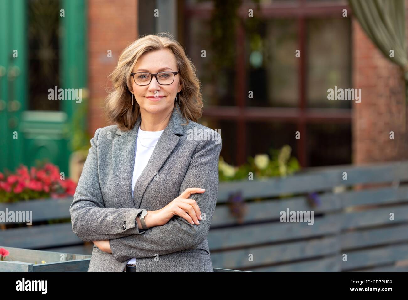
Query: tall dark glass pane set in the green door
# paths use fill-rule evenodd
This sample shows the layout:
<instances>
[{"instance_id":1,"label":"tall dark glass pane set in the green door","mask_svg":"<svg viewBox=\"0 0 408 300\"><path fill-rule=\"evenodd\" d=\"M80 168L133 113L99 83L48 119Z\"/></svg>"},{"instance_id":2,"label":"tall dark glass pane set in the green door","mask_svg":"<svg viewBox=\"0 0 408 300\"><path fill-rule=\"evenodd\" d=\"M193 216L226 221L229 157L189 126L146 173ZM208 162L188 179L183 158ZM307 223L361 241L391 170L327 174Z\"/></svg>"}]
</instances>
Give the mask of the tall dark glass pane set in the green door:
<instances>
[{"instance_id":1,"label":"tall dark glass pane set in the green door","mask_svg":"<svg viewBox=\"0 0 408 300\"><path fill-rule=\"evenodd\" d=\"M60 1L30 0L28 5L29 110L59 110L48 89L60 86Z\"/></svg>"}]
</instances>

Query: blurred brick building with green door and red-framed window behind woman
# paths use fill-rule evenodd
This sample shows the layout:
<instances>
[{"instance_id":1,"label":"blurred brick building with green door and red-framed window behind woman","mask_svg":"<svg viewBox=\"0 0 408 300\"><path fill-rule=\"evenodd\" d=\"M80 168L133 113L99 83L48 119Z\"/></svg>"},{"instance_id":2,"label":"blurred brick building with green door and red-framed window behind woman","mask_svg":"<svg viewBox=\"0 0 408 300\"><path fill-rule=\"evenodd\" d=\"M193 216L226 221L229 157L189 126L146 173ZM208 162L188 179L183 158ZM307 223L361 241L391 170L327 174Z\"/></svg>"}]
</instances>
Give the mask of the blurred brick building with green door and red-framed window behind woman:
<instances>
[{"instance_id":1,"label":"blurred brick building with green door and red-framed window behind woman","mask_svg":"<svg viewBox=\"0 0 408 300\"><path fill-rule=\"evenodd\" d=\"M0 28L0 172L47 158L78 177L89 139L109 125L118 56L162 31L197 67L200 122L221 130L227 163L286 144L302 167L408 158L401 71L346 1L4 0ZM82 88L82 102L49 100L54 86ZM334 86L361 88L361 103L328 100Z\"/></svg>"}]
</instances>

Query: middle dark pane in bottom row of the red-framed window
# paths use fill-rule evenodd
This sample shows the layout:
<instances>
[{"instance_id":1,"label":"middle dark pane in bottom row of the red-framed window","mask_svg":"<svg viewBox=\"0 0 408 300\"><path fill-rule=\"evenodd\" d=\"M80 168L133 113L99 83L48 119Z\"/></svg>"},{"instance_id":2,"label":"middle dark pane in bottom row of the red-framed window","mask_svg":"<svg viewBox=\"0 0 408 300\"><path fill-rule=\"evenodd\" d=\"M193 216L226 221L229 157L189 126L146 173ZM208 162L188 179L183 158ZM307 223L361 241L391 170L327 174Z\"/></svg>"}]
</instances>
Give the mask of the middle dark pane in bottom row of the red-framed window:
<instances>
[{"instance_id":1,"label":"middle dark pane in bottom row of the red-framed window","mask_svg":"<svg viewBox=\"0 0 408 300\"><path fill-rule=\"evenodd\" d=\"M246 154L269 154L271 149L279 150L286 144L292 148L291 156L297 157L295 139L296 124L248 122L246 126Z\"/></svg>"}]
</instances>

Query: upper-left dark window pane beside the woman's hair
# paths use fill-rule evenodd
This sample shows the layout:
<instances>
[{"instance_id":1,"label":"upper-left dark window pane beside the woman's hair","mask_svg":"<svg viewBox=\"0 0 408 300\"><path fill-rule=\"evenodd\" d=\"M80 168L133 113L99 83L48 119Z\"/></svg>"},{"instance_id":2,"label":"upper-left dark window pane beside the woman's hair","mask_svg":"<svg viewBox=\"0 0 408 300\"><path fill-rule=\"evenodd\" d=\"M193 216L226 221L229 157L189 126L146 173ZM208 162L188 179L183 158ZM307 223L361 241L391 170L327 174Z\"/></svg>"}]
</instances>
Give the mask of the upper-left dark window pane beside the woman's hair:
<instances>
[{"instance_id":1,"label":"upper-left dark window pane beside the woman's hair","mask_svg":"<svg viewBox=\"0 0 408 300\"><path fill-rule=\"evenodd\" d=\"M197 68L204 105L235 105L235 64L231 67L217 65L217 53L212 51L211 45L210 20L189 19L188 31L186 52ZM202 50L206 51L206 57L201 57Z\"/></svg>"}]
</instances>

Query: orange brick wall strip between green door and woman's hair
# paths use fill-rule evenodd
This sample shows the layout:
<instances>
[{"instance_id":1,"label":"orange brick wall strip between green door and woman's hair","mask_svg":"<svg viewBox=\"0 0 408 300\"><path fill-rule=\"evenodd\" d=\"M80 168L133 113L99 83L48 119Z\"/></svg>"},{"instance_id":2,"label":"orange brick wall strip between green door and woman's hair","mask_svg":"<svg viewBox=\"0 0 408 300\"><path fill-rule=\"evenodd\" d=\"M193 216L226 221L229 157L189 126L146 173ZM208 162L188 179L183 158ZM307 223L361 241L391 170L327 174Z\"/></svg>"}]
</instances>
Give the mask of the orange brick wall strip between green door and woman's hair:
<instances>
[{"instance_id":1,"label":"orange brick wall strip between green door and woman's hair","mask_svg":"<svg viewBox=\"0 0 408 300\"><path fill-rule=\"evenodd\" d=\"M121 51L138 37L137 0L88 1L88 86L90 93L88 131L91 136L106 123L103 115L107 78ZM107 51L112 57L107 57Z\"/></svg>"}]
</instances>

